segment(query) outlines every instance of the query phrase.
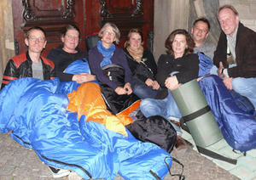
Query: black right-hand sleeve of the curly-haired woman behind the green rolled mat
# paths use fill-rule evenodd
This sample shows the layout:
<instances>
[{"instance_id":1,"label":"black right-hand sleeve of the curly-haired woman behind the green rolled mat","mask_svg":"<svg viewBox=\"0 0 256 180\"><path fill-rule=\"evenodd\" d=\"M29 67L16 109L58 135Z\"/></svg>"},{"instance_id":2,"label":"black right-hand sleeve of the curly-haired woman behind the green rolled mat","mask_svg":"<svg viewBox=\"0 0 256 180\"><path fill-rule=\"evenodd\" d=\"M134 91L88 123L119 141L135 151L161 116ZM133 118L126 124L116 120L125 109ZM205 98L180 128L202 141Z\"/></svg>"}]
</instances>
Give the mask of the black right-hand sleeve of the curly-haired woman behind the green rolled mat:
<instances>
[{"instance_id":1,"label":"black right-hand sleeve of the curly-haired woman behind the green rolled mat","mask_svg":"<svg viewBox=\"0 0 256 180\"><path fill-rule=\"evenodd\" d=\"M184 62L185 68L182 72L177 73L177 82L186 83L198 77L199 72L199 59L198 55L195 53L190 53L186 57L186 62Z\"/></svg>"}]
</instances>

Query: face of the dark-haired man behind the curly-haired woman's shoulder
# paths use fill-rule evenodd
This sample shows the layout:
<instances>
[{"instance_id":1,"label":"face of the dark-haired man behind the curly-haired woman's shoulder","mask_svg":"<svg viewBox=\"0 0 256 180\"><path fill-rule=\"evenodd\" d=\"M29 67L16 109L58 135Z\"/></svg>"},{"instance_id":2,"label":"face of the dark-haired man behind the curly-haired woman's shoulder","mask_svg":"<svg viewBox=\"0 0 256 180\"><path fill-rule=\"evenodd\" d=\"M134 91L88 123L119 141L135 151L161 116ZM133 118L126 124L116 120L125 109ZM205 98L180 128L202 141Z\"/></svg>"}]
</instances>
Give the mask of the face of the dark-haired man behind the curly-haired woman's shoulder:
<instances>
[{"instance_id":1,"label":"face of the dark-haired man behind the curly-haired woman's shoulder","mask_svg":"<svg viewBox=\"0 0 256 180\"><path fill-rule=\"evenodd\" d=\"M206 40L208 36L208 25L203 21L198 21L191 29L191 34L195 41L196 46L201 46L201 44Z\"/></svg>"}]
</instances>

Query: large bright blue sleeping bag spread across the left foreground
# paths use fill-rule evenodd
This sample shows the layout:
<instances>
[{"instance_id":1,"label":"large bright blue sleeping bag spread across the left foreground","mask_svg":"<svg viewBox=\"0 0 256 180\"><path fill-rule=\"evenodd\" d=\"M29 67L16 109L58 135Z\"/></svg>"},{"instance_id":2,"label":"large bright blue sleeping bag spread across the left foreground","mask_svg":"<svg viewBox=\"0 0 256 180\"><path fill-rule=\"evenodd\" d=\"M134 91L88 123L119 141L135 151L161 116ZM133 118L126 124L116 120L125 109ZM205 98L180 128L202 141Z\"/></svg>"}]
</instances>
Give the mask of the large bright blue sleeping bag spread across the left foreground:
<instances>
[{"instance_id":1,"label":"large bright blue sleeping bag spread across the left foreground","mask_svg":"<svg viewBox=\"0 0 256 180\"><path fill-rule=\"evenodd\" d=\"M68 86L71 87L68 87ZM61 89L63 87L63 89ZM170 155L153 143L142 143L106 129L82 115L68 112L67 93L77 88L58 78L41 81L21 78L0 91L0 132L9 132L21 145L34 149L49 166L69 169L85 179L161 179ZM171 166L172 158L166 163ZM144 177L144 178L143 178Z\"/></svg>"}]
</instances>

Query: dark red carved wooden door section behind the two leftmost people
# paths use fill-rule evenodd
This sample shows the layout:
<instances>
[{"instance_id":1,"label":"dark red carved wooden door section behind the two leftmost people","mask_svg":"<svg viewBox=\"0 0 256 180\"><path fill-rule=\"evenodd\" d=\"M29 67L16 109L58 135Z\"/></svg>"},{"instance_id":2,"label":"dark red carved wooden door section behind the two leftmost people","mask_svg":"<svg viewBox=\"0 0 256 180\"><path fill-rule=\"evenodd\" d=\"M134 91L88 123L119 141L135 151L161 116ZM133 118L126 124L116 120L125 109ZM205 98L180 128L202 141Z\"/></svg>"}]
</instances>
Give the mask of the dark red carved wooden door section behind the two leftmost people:
<instances>
[{"instance_id":1,"label":"dark red carved wooden door section behind the two leftmost people","mask_svg":"<svg viewBox=\"0 0 256 180\"><path fill-rule=\"evenodd\" d=\"M32 26L41 26L46 31L47 45L43 54L61 44L61 29L70 23L77 23L84 37L84 1L81 0L13 0L15 28L15 53L26 51L24 32ZM76 15L76 12L81 14ZM84 49L84 39L79 45Z\"/></svg>"}]
</instances>

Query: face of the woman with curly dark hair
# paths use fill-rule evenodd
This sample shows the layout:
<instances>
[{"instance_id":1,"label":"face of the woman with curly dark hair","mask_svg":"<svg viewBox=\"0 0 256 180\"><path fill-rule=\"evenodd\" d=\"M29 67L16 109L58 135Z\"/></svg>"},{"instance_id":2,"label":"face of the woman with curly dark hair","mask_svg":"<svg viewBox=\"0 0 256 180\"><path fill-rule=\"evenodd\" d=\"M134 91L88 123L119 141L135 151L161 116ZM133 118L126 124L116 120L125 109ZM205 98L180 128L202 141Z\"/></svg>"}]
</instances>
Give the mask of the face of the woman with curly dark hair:
<instances>
[{"instance_id":1,"label":"face of the woman with curly dark hair","mask_svg":"<svg viewBox=\"0 0 256 180\"><path fill-rule=\"evenodd\" d=\"M180 58L185 53L185 49L188 48L186 37L183 34L177 34L172 42L172 50L174 52L175 59Z\"/></svg>"}]
</instances>

